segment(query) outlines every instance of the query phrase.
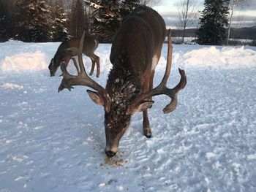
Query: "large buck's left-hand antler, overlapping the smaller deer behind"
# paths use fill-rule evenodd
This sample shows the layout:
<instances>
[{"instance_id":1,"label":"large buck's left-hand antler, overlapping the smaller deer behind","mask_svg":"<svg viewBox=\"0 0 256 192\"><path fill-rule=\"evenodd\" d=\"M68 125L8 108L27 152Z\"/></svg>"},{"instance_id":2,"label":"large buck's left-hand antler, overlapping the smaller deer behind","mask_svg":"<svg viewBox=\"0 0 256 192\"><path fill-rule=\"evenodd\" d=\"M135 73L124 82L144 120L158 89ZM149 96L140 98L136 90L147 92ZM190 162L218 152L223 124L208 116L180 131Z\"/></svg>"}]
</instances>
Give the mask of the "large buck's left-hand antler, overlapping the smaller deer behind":
<instances>
[{"instance_id":1,"label":"large buck's left-hand antler, overlapping the smaller deer behind","mask_svg":"<svg viewBox=\"0 0 256 192\"><path fill-rule=\"evenodd\" d=\"M78 64L76 63L76 61L73 60L75 64L75 68L78 71L78 75L69 74L69 72L67 72L67 64L66 63L61 64L63 79L61 81L61 85L59 85L59 91L62 91L64 88L67 88L69 91L71 91L71 89L73 88L72 85L84 85L84 86L93 88L95 91L98 91L100 94L102 94L102 96L105 96L106 95L105 88L102 88L101 85L99 85L97 82L92 80L88 76L88 74L86 74L86 69L84 68L83 58L82 58L84 38L85 38L85 32L83 31L83 35L79 43L79 49L72 47L73 51L78 52Z\"/></svg>"}]
</instances>

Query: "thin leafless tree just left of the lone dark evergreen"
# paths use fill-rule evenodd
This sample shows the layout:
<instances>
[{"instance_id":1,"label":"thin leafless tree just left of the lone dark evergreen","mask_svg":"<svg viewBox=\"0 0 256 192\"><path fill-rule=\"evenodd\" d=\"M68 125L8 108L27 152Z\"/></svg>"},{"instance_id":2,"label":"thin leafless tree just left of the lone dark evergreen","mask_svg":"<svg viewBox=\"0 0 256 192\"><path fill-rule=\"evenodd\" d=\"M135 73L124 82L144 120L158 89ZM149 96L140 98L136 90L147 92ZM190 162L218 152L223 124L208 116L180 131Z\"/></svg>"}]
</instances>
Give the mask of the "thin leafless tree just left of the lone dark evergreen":
<instances>
[{"instance_id":1,"label":"thin leafless tree just left of the lone dark evergreen","mask_svg":"<svg viewBox=\"0 0 256 192\"><path fill-rule=\"evenodd\" d=\"M176 4L178 7L178 19L182 28L182 42L184 42L185 30L195 24L197 17L195 12L196 2L195 0L179 0Z\"/></svg>"}]
</instances>

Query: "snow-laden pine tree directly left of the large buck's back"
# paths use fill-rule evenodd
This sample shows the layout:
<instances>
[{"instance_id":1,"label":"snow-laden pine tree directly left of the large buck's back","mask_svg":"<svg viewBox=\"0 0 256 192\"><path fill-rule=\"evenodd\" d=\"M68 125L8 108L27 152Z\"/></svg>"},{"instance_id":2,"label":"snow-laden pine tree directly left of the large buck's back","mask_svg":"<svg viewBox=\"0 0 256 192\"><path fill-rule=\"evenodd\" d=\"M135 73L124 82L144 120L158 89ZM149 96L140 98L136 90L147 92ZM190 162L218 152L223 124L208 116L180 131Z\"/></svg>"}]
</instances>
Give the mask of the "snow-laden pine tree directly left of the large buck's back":
<instances>
[{"instance_id":1,"label":"snow-laden pine tree directly left of the large buck's back","mask_svg":"<svg viewBox=\"0 0 256 192\"><path fill-rule=\"evenodd\" d=\"M116 31L121 25L121 3L114 1L85 0L93 9L92 34L98 37L99 42L112 42Z\"/></svg>"}]
</instances>

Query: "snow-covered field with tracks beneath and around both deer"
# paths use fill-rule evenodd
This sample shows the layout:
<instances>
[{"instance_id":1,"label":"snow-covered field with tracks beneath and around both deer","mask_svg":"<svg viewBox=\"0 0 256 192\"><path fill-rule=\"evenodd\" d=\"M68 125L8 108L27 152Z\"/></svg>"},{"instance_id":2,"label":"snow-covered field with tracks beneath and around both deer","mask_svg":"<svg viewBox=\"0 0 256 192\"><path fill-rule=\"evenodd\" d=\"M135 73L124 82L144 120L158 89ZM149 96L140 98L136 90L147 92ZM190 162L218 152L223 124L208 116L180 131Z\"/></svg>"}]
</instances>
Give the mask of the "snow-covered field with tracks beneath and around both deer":
<instances>
[{"instance_id":1,"label":"snow-covered field with tracks beneath and around both deer","mask_svg":"<svg viewBox=\"0 0 256 192\"><path fill-rule=\"evenodd\" d=\"M155 97L153 137L143 137L142 115L135 114L108 159L103 108L85 87L57 93L62 77L49 77L58 46L0 44L1 192L256 191L256 47L173 45L169 87L179 80L178 67L188 81L177 109L164 115L169 100ZM96 53L97 81L105 85L110 45Z\"/></svg>"}]
</instances>

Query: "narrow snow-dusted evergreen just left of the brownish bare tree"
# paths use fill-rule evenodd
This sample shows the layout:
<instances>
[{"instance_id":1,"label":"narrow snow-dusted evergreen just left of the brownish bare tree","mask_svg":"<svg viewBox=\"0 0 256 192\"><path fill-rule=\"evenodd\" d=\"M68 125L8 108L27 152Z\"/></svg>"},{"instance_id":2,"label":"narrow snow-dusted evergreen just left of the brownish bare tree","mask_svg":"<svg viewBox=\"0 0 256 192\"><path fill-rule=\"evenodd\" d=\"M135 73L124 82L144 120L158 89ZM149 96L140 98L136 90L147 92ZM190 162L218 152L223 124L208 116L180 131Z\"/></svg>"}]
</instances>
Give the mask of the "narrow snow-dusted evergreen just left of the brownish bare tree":
<instances>
[{"instance_id":1,"label":"narrow snow-dusted evergreen just left of the brownish bare tree","mask_svg":"<svg viewBox=\"0 0 256 192\"><path fill-rule=\"evenodd\" d=\"M67 13L64 11L62 0L56 0L53 5L53 25L52 39L53 42L63 42L67 40L69 34L67 32Z\"/></svg>"}]
</instances>

